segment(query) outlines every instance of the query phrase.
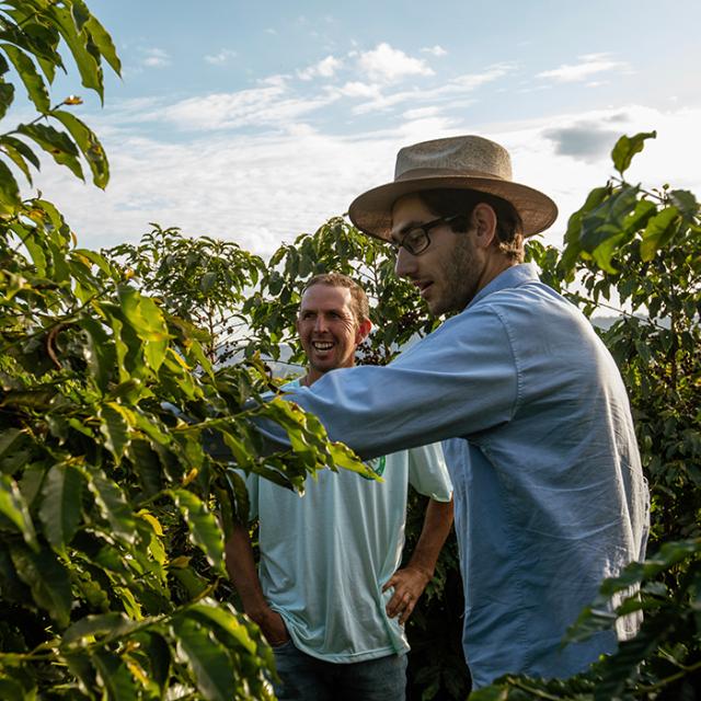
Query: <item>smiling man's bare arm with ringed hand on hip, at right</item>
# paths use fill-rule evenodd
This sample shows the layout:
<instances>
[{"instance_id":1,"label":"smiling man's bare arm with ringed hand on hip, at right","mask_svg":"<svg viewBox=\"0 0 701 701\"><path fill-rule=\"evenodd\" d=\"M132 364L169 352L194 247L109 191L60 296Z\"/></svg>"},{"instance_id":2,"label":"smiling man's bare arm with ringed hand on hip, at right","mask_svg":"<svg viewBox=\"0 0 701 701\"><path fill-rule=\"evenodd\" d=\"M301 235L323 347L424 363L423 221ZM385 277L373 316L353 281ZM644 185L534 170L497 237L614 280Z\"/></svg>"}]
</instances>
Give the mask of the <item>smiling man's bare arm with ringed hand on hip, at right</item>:
<instances>
[{"instance_id":1,"label":"smiling man's bare arm with ringed hand on hip, at right","mask_svg":"<svg viewBox=\"0 0 701 701\"><path fill-rule=\"evenodd\" d=\"M406 622L418 597L434 576L440 549L448 538L451 526L452 499L450 502L429 499L421 537L409 564L398 570L382 587L383 591L390 587L394 588L392 598L387 605L387 614L390 618L399 616L400 623Z\"/></svg>"}]
</instances>

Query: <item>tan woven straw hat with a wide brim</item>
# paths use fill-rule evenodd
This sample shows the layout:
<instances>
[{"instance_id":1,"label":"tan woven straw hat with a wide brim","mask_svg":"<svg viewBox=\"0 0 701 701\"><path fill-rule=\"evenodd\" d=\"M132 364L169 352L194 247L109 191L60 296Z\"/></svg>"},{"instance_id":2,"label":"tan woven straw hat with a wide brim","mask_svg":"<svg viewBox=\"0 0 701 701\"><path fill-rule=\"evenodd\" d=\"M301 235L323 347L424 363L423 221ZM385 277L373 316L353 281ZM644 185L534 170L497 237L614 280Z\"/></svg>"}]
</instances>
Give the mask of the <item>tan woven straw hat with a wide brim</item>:
<instances>
[{"instance_id":1,"label":"tan woven straw hat with a wide brim","mask_svg":"<svg viewBox=\"0 0 701 701\"><path fill-rule=\"evenodd\" d=\"M438 188L475 189L510 202L527 237L550 227L558 216L558 207L548 195L512 181L508 151L479 136L404 147L397 154L394 182L356 197L348 216L361 231L389 240L394 203L404 195Z\"/></svg>"}]
</instances>

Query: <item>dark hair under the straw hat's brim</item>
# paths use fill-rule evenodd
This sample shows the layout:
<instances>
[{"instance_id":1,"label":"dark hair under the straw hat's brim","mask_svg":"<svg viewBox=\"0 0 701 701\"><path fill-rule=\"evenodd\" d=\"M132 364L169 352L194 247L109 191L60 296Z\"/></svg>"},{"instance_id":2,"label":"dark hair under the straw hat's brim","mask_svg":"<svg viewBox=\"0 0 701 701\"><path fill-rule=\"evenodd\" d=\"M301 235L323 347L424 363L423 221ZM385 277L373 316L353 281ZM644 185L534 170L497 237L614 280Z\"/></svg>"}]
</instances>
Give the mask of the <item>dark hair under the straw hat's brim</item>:
<instances>
[{"instance_id":1,"label":"dark hair under the straw hat's brim","mask_svg":"<svg viewBox=\"0 0 701 701\"><path fill-rule=\"evenodd\" d=\"M464 215L464 217L458 217L450 225L453 231L467 231L474 208L481 203L490 205L496 214L494 245L517 263L524 260L524 223L510 202L476 189L424 189L416 194L437 217Z\"/></svg>"}]
</instances>

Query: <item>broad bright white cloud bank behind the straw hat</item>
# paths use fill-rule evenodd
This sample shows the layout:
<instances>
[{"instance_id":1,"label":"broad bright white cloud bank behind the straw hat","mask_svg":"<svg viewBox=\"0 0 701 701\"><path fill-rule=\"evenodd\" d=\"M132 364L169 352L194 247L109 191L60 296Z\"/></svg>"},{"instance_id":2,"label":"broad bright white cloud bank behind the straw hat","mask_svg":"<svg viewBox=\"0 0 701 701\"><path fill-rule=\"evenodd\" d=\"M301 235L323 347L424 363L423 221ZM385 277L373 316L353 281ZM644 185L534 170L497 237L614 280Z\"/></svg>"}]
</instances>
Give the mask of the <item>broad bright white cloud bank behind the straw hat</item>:
<instances>
[{"instance_id":1,"label":"broad bright white cloud bank behind the straw hat","mask_svg":"<svg viewBox=\"0 0 701 701\"><path fill-rule=\"evenodd\" d=\"M102 124L91 120L111 159L107 191L82 185L48 162L35 186L65 211L81 245L134 241L148 230L149 221L157 221L180 226L193 235L237 240L268 254L281 241L290 242L344 212L359 193L390 181L400 147L475 129L469 117L443 116L440 105L422 103L406 110L400 124L382 130L324 134L304 122L303 101L286 92L283 77L276 83L198 103L141 104L183 125L193 126L202 118L193 116L192 110L209 115L212 125L238 122L245 126L245 131L233 133L203 129L199 138L182 143L169 142L158 131L150 138L136 137L129 131L133 110L111 108ZM475 81L458 83L464 90ZM456 92L445 95L450 96L449 106L459 99ZM517 182L555 199L561 215L545 240L560 243L568 215L611 174L608 153L621 134L657 129L659 135L633 161L631 182L650 187L669 182L701 193L697 168L701 147L696 138L700 120L701 108L664 112L619 105L483 124L479 133L509 149ZM278 128L255 129L265 125Z\"/></svg>"}]
</instances>

